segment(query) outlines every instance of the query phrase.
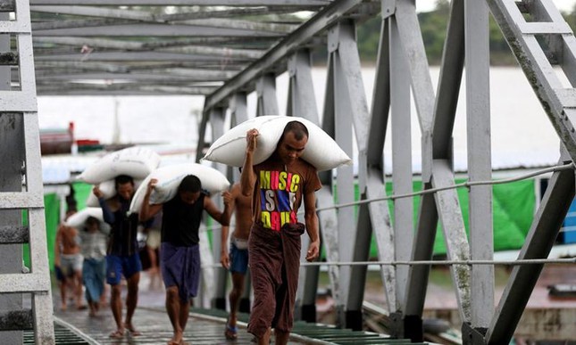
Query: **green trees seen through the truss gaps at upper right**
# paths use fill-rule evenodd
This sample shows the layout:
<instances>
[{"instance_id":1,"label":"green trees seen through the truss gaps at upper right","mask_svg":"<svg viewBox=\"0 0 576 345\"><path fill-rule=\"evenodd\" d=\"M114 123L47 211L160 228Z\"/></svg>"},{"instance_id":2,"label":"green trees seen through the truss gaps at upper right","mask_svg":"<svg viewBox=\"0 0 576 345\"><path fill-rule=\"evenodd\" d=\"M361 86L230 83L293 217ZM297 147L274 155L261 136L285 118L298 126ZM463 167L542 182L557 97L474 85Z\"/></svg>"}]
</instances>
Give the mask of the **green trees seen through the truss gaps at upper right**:
<instances>
[{"instance_id":1,"label":"green trees seen through the truss gaps at upper right","mask_svg":"<svg viewBox=\"0 0 576 345\"><path fill-rule=\"evenodd\" d=\"M437 0L436 9L431 12L418 13L418 20L422 30L422 39L428 55L428 61L437 65L442 59L442 50L446 39L447 24L450 15L448 0ZM563 12L566 22L576 28L576 6L572 12ZM380 17L365 21L357 27L358 50L363 62L375 62L380 40ZM513 54L508 47L496 21L490 16L490 63L492 65L516 64Z\"/></svg>"}]
</instances>

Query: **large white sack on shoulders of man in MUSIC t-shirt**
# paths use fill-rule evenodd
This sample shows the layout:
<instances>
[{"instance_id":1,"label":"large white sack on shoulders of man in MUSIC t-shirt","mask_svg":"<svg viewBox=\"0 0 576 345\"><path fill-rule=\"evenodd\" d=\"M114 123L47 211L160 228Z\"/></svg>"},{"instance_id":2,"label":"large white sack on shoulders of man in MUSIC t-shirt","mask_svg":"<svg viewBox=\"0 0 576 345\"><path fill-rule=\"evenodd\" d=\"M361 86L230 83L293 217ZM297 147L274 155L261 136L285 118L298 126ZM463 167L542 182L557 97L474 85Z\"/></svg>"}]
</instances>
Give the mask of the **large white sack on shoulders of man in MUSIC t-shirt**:
<instances>
[{"instance_id":1,"label":"large white sack on shoulders of man in MUSIC t-shirt","mask_svg":"<svg viewBox=\"0 0 576 345\"><path fill-rule=\"evenodd\" d=\"M256 128L260 134L254 154L254 164L262 163L276 150L284 127L294 120L302 122L308 129L308 143L302 154L303 160L312 164L318 171L352 164L346 152L321 127L304 118L278 115L259 116L230 128L210 146L203 160L242 167L246 154L246 132Z\"/></svg>"}]
</instances>

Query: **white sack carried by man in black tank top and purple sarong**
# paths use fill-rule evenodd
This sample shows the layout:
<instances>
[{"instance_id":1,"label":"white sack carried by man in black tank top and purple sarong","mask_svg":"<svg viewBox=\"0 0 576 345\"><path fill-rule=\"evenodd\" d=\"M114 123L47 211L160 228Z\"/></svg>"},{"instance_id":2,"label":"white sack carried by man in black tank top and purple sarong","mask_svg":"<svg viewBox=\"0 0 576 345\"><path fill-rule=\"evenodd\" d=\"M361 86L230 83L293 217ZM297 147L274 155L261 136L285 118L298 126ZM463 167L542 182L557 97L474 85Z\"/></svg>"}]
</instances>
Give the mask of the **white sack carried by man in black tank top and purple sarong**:
<instances>
[{"instance_id":1,"label":"white sack carried by man in black tank top and purple sarong","mask_svg":"<svg viewBox=\"0 0 576 345\"><path fill-rule=\"evenodd\" d=\"M175 164L155 169L138 187L130 204L130 213L138 213L146 194L148 182L155 178L158 181L150 194L150 203L163 203L171 200L178 192L178 186L184 177L194 175L200 179L202 189L210 193L219 193L230 187L228 179L215 168L202 164Z\"/></svg>"}]
</instances>

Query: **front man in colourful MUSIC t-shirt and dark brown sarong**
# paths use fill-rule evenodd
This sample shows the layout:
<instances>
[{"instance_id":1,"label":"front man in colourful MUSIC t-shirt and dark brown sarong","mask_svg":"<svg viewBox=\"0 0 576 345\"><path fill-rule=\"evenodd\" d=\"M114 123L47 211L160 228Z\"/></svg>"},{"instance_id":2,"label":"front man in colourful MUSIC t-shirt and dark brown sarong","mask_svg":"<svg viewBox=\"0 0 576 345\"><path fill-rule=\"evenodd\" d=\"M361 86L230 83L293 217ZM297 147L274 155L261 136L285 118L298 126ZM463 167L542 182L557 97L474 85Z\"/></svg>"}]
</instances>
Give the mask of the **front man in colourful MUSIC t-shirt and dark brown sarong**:
<instances>
[{"instance_id":1,"label":"front man in colourful MUSIC t-shirt and dark brown sarong","mask_svg":"<svg viewBox=\"0 0 576 345\"><path fill-rule=\"evenodd\" d=\"M310 236L306 260L318 258L320 239L315 191L321 188L316 168L300 156L308 130L288 122L276 151L253 165L257 129L246 133L246 156L240 177L241 191L252 194L254 224L248 241L254 303L248 332L258 344L268 344L274 328L276 344L287 344L294 321L294 304L300 267L300 235ZM297 210L305 205L305 225Z\"/></svg>"}]
</instances>

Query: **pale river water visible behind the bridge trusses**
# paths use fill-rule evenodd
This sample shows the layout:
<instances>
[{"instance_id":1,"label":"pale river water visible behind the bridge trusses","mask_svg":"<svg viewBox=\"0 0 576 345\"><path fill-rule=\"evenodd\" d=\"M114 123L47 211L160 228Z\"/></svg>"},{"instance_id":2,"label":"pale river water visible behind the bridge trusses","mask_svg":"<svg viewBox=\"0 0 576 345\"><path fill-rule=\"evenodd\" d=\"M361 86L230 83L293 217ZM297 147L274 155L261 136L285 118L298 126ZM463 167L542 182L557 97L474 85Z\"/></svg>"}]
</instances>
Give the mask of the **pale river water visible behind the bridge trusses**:
<instances>
[{"instance_id":1,"label":"pale river water visible behind the bridge trusses","mask_svg":"<svg viewBox=\"0 0 576 345\"><path fill-rule=\"evenodd\" d=\"M367 104L371 104L374 68L363 68ZM432 84L438 83L438 67L430 68ZM321 114L326 70L313 69L314 92ZM542 166L558 158L559 140L538 103L522 70L497 67L490 71L492 160L495 168ZM280 114L285 114L288 76L277 79ZM464 83L463 83L464 87ZM456 168L465 168L465 91L461 90L455 119ZM193 146L204 105L201 96L42 96L38 97L40 128L75 124L77 138L111 143L114 129L120 129L122 143L168 143ZM249 116L255 114L255 94L248 95ZM115 116L117 114L117 116ZM115 123L117 124L115 126ZM413 107L412 146L418 169L420 128ZM208 140L210 138L207 138ZM389 136L385 152L389 152Z\"/></svg>"}]
</instances>

